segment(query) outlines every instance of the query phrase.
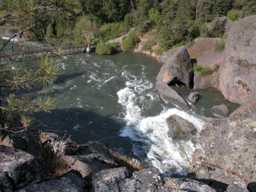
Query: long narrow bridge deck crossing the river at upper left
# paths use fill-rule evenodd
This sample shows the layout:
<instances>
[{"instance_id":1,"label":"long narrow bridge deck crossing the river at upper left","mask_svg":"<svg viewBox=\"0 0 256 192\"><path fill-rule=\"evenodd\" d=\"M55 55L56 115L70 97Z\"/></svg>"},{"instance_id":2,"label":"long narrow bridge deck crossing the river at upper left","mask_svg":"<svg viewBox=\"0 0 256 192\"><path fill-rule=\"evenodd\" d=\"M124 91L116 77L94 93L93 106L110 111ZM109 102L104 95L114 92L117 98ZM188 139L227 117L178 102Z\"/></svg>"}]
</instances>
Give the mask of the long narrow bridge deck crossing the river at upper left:
<instances>
[{"instance_id":1,"label":"long narrow bridge deck crossing the river at upper left","mask_svg":"<svg viewBox=\"0 0 256 192\"><path fill-rule=\"evenodd\" d=\"M58 51L86 50L87 47L88 47L88 45L74 45L74 46L62 47L61 49L57 49L57 50ZM29 51L13 52L13 53L0 55L0 59L23 57L23 56L28 56L28 55L37 55L37 54L41 54L41 53L52 52L54 50L56 50L56 49L47 48L47 49L40 49L40 50L29 50Z\"/></svg>"}]
</instances>

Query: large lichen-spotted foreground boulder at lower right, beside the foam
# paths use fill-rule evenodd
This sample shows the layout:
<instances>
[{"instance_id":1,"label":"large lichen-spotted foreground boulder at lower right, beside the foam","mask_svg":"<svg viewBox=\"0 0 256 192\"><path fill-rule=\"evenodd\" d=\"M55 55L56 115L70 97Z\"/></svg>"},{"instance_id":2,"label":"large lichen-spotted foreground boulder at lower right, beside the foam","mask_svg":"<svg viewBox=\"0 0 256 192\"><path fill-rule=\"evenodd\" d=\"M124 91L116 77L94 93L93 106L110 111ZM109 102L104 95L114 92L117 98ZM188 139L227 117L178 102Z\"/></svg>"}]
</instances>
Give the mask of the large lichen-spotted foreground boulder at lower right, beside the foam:
<instances>
[{"instance_id":1,"label":"large lichen-spotted foreground boulder at lower right, beside the foam","mask_svg":"<svg viewBox=\"0 0 256 192\"><path fill-rule=\"evenodd\" d=\"M197 178L218 189L242 182L256 191L255 122L256 111L205 122L193 154Z\"/></svg>"}]
</instances>

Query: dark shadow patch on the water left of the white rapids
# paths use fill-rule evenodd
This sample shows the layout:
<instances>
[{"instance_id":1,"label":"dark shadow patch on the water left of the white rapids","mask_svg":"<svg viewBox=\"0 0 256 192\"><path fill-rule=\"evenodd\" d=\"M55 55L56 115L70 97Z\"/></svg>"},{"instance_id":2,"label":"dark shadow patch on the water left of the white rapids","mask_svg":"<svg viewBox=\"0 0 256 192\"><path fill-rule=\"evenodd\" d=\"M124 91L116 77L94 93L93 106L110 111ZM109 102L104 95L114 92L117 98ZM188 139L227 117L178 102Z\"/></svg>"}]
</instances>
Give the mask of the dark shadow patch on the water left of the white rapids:
<instances>
[{"instance_id":1,"label":"dark shadow patch on the water left of the white rapids","mask_svg":"<svg viewBox=\"0 0 256 192\"><path fill-rule=\"evenodd\" d=\"M110 116L101 116L80 108L51 110L51 113L37 112L35 117L43 121L43 131L60 131L71 135L78 144L87 141L99 141L124 154L132 154L132 143L128 137L120 137L122 122L117 122Z\"/></svg>"}]
</instances>

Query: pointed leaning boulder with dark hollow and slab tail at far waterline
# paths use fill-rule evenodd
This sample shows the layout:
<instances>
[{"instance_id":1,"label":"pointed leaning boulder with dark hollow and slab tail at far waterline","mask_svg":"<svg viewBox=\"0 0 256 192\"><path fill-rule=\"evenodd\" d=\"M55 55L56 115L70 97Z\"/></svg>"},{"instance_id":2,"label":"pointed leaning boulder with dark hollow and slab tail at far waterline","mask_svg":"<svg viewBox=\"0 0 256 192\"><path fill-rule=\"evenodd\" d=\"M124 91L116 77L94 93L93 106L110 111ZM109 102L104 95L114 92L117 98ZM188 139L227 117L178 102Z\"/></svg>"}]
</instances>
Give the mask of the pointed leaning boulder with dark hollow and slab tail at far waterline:
<instances>
[{"instance_id":1,"label":"pointed leaning boulder with dark hollow and slab tail at far waterline","mask_svg":"<svg viewBox=\"0 0 256 192\"><path fill-rule=\"evenodd\" d=\"M168 85L175 82L182 82L187 87L193 86L193 65L186 47L172 49L162 56L163 66L157 75L156 86L163 99L171 101L180 109L187 111L189 106L186 101Z\"/></svg>"}]
</instances>

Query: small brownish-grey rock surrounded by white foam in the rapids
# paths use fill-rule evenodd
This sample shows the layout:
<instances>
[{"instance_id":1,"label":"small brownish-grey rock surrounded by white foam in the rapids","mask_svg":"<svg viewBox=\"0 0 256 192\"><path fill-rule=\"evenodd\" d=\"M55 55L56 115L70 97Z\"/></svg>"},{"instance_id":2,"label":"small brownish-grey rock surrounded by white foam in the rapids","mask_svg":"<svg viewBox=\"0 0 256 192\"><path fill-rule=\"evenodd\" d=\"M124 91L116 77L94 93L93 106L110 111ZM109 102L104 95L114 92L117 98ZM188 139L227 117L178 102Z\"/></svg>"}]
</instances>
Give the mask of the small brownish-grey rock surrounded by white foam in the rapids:
<instances>
[{"instance_id":1,"label":"small brownish-grey rock surrounded by white foam in the rapids","mask_svg":"<svg viewBox=\"0 0 256 192\"><path fill-rule=\"evenodd\" d=\"M169 127L167 134L171 138L183 135L192 135L197 131L197 129L195 129L186 119L175 114L166 118L166 122Z\"/></svg>"}]
</instances>

